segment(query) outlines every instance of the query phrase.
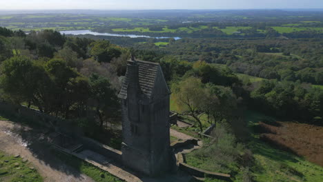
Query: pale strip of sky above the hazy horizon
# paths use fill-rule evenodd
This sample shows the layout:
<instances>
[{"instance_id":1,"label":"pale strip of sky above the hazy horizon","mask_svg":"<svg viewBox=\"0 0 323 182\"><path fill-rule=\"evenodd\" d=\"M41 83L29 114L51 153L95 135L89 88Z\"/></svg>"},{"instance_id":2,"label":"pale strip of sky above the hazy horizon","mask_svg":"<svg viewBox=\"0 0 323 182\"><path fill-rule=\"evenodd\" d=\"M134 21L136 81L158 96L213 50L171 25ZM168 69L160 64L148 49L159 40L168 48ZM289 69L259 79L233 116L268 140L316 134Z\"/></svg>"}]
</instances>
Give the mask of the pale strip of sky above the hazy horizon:
<instances>
[{"instance_id":1,"label":"pale strip of sky above the hazy horizon","mask_svg":"<svg viewBox=\"0 0 323 182\"><path fill-rule=\"evenodd\" d=\"M323 8L323 0L0 0L1 10Z\"/></svg>"}]
</instances>

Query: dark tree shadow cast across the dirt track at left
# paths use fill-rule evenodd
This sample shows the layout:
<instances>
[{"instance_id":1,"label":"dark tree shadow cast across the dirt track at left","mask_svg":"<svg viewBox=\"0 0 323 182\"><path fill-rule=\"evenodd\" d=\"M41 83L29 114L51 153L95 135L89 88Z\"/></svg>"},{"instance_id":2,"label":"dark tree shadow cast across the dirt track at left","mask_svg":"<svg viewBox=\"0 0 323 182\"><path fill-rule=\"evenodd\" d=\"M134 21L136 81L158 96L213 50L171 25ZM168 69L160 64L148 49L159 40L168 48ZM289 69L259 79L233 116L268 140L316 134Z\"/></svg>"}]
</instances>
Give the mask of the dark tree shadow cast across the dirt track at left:
<instances>
[{"instance_id":1,"label":"dark tree shadow cast across the dirt track at left","mask_svg":"<svg viewBox=\"0 0 323 182\"><path fill-rule=\"evenodd\" d=\"M57 158L57 156L53 155L48 138L48 134L54 131L53 128L48 128L46 123L41 123L43 121L34 121L28 116L15 112L15 110L2 110L1 108L0 117L4 120L3 122L8 120L6 122L14 125L12 128L1 128L1 130L10 133L15 141L26 145L32 156L39 160L40 163L48 165L53 170L63 172L68 176L74 176L79 181L84 179L78 168L71 168ZM6 144L10 145L10 143Z\"/></svg>"}]
</instances>

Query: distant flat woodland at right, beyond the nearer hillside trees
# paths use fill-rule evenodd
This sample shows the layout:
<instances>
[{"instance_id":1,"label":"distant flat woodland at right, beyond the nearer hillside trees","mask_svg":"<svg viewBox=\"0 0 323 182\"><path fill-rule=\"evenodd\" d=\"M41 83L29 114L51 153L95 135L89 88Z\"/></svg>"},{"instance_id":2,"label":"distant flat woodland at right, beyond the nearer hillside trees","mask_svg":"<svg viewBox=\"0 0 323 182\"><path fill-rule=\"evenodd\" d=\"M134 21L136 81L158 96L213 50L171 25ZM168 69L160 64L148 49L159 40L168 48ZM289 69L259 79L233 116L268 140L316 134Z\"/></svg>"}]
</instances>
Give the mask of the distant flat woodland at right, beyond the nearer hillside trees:
<instances>
[{"instance_id":1,"label":"distant flat woodland at right, beyond the nearer hillside trees","mask_svg":"<svg viewBox=\"0 0 323 182\"><path fill-rule=\"evenodd\" d=\"M135 48L172 54L179 60L227 65L253 77L323 85L322 39L180 39L164 48L153 43Z\"/></svg>"}]
</instances>

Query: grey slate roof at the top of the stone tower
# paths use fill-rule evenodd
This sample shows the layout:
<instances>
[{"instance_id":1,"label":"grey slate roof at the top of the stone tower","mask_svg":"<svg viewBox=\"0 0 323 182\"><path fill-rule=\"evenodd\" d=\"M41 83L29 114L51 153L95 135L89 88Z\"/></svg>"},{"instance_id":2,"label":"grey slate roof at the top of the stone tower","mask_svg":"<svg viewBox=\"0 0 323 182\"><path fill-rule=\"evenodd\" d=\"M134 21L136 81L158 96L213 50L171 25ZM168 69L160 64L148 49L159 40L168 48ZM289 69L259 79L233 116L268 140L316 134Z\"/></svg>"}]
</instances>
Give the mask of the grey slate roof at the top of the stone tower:
<instances>
[{"instance_id":1,"label":"grey slate roof at the top of the stone tower","mask_svg":"<svg viewBox=\"0 0 323 182\"><path fill-rule=\"evenodd\" d=\"M140 91L142 94L144 94L144 96L146 96L146 98L153 99L153 90L155 88L155 82L156 82L157 76L158 74L161 74L161 76L164 77L163 73L161 72L160 65L159 63L153 63L149 61L141 61L141 60L135 60L135 61L138 64L138 69L139 69L138 74L139 74ZM127 89L128 89L128 84L130 80L129 77L130 76L127 71L125 79L121 86L121 90L118 95L118 97L121 99L127 98ZM169 90L168 90L168 94L170 94Z\"/></svg>"}]
</instances>

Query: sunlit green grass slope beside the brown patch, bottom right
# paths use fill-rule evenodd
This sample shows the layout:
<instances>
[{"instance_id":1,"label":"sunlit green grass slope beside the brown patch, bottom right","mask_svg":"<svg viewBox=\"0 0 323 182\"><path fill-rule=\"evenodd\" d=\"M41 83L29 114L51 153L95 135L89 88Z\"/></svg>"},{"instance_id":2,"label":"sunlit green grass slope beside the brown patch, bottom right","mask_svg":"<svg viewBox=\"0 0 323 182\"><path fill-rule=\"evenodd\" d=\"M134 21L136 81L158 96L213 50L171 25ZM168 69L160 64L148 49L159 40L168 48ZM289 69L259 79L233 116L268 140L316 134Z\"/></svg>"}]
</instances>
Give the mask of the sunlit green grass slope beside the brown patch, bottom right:
<instances>
[{"instance_id":1,"label":"sunlit green grass slope beside the brown patch, bottom right","mask_svg":"<svg viewBox=\"0 0 323 182\"><path fill-rule=\"evenodd\" d=\"M246 121L253 127L259 121L276 121L275 118L259 112L246 111ZM256 164L253 168L255 181L323 181L323 168L302 157L278 150L260 141L259 134L253 133L248 148L253 152Z\"/></svg>"}]
</instances>

